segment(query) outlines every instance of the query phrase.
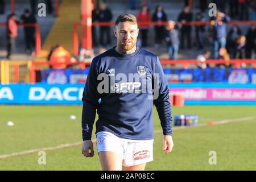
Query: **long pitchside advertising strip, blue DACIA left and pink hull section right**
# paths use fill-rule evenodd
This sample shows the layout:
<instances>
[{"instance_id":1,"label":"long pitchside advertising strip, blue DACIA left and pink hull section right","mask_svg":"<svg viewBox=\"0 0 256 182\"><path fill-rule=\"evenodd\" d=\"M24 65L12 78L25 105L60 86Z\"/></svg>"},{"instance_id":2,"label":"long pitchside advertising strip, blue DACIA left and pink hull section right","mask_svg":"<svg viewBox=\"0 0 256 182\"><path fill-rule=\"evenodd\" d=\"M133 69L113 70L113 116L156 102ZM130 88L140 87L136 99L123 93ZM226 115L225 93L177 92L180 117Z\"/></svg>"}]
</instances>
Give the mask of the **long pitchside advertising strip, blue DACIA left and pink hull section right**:
<instances>
[{"instance_id":1,"label":"long pitchside advertising strip, blue DACIA left and pink hull section right","mask_svg":"<svg viewBox=\"0 0 256 182\"><path fill-rule=\"evenodd\" d=\"M188 105L256 105L256 84L169 84L173 94L183 94ZM0 85L0 104L82 104L84 84Z\"/></svg>"}]
</instances>

